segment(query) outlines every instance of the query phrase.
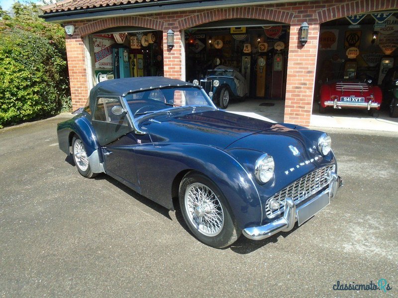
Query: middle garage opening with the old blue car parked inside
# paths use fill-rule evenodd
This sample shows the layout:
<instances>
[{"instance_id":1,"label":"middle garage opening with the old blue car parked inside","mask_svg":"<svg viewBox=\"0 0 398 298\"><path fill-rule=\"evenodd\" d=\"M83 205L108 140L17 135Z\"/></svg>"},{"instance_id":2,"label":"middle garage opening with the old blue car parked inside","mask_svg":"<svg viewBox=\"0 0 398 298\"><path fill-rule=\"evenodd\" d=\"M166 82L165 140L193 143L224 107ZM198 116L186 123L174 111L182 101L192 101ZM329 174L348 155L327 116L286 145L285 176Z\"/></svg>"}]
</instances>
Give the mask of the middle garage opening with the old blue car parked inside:
<instances>
[{"instance_id":1,"label":"middle garage opening with the old blue car parked inside","mask_svg":"<svg viewBox=\"0 0 398 298\"><path fill-rule=\"evenodd\" d=\"M289 29L254 19L187 29L186 79L199 83L221 108L283 121Z\"/></svg>"}]
</instances>

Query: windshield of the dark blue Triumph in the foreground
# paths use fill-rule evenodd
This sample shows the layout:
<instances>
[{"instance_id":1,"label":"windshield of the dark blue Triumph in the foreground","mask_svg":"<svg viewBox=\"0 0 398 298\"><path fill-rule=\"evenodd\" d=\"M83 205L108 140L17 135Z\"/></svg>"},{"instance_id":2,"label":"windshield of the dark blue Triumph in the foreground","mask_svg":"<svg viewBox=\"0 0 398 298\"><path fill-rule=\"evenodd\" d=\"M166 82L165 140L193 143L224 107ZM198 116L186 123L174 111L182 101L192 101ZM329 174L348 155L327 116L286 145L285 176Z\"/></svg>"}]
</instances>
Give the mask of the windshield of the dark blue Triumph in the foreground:
<instances>
[{"instance_id":1,"label":"windshield of the dark blue Triumph in the foreground","mask_svg":"<svg viewBox=\"0 0 398 298\"><path fill-rule=\"evenodd\" d=\"M133 118L187 106L215 108L206 94L197 87L165 87L127 94L125 100Z\"/></svg>"}]
</instances>

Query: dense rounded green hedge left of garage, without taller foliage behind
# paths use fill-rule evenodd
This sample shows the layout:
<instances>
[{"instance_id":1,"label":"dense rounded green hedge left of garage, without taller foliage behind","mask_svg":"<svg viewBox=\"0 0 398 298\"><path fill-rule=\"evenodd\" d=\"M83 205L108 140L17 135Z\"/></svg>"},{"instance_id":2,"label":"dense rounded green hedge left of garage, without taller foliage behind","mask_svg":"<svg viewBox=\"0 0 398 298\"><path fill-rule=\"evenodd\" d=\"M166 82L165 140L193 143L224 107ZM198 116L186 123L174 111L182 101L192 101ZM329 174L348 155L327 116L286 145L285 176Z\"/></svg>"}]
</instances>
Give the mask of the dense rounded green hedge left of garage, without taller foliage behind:
<instances>
[{"instance_id":1,"label":"dense rounded green hedge left of garage, without taller foliage behind","mask_svg":"<svg viewBox=\"0 0 398 298\"><path fill-rule=\"evenodd\" d=\"M0 128L62 109L66 62L50 43L17 28L1 32Z\"/></svg>"}]
</instances>

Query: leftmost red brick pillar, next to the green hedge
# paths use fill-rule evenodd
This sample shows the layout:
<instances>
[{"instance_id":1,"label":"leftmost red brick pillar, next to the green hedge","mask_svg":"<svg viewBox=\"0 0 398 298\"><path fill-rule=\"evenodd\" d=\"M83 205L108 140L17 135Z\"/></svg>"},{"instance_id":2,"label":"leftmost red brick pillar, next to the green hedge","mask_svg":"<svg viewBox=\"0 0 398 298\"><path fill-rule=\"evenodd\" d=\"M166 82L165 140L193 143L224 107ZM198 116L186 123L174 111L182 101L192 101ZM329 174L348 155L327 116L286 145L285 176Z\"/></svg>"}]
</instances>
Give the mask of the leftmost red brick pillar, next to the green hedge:
<instances>
[{"instance_id":1,"label":"leftmost red brick pillar, next to the green hedge","mask_svg":"<svg viewBox=\"0 0 398 298\"><path fill-rule=\"evenodd\" d=\"M66 36L65 42L72 106L76 110L86 104L89 96L85 45L79 32L76 31L72 37Z\"/></svg>"}]
</instances>

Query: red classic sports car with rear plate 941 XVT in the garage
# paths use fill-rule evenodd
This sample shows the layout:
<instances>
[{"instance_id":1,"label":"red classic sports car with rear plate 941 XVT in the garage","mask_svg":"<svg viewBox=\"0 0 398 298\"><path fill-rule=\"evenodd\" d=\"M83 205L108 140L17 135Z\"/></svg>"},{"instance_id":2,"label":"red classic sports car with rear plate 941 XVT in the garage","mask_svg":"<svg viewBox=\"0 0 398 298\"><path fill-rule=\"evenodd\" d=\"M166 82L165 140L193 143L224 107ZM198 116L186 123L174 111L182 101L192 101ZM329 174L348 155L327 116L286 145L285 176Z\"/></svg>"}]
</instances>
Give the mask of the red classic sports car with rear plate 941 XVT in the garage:
<instances>
[{"instance_id":1,"label":"red classic sports car with rear plate 941 XVT in the garage","mask_svg":"<svg viewBox=\"0 0 398 298\"><path fill-rule=\"evenodd\" d=\"M339 79L324 83L320 87L319 112L325 113L328 107L334 109L367 109L370 115L380 110L382 90L370 84L371 81Z\"/></svg>"}]
</instances>

